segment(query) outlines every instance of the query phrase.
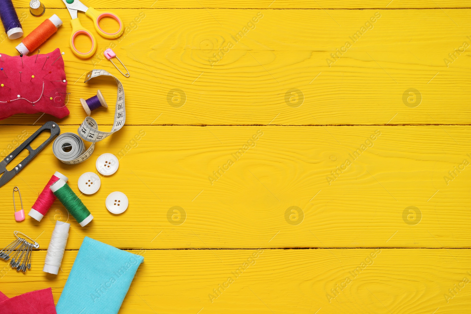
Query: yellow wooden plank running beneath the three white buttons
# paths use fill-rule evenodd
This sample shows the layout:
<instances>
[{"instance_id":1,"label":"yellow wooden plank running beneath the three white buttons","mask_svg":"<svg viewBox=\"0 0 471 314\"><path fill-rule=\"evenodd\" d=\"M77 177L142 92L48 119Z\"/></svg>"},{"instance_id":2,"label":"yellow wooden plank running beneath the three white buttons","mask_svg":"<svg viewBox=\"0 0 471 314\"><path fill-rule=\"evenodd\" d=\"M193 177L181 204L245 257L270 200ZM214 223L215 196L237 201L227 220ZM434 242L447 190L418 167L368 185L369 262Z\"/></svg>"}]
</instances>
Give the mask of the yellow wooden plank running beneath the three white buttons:
<instances>
[{"instance_id":1,"label":"yellow wooden plank running beneath the three white buttons","mask_svg":"<svg viewBox=\"0 0 471 314\"><path fill-rule=\"evenodd\" d=\"M2 126L0 147L34 129ZM254 135L258 140L251 140ZM33 238L44 232L40 244L46 245L55 219L66 219L56 202L41 223L30 217L16 223L13 186L20 187L28 212L55 171L69 177L80 194L80 175L96 171L100 154L114 153L123 156L118 171L102 177L96 194L81 195L95 219L84 228L69 219L70 249L78 249L85 235L122 249L467 248L471 172L463 160L471 162L469 137L471 128L463 126L125 126L99 142L94 155L79 165L62 164L49 145L1 187L0 243L20 229ZM106 196L114 191L130 200L122 215L105 208ZM167 216L173 206L183 208L186 218L172 219L178 215L173 209ZM299 220L289 217L291 209L286 218L292 206L300 208ZM421 217L408 220L408 209L403 216L409 206L417 207Z\"/></svg>"}]
</instances>

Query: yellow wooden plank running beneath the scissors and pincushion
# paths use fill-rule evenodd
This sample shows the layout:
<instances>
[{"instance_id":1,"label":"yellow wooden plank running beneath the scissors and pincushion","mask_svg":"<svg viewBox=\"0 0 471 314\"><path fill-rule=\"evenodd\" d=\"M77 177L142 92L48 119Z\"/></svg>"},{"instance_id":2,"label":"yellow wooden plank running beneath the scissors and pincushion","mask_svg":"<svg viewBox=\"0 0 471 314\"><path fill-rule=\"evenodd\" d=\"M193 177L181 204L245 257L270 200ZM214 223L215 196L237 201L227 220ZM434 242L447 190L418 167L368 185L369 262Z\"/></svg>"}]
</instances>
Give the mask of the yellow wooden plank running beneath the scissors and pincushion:
<instances>
[{"instance_id":1,"label":"yellow wooden plank running beneath the scissors and pincushion","mask_svg":"<svg viewBox=\"0 0 471 314\"><path fill-rule=\"evenodd\" d=\"M92 68L106 69L122 80L128 125L470 123L471 110L462 104L469 97L471 59L466 50L456 53L453 63L444 61L463 42L471 45L466 27L469 9L332 10L329 14L324 10L262 9L114 11L128 33L121 41L97 36L97 57L85 61L68 48L71 26L67 11L48 11L65 23L41 49L60 47L65 51L72 93L68 104L72 113L58 123L80 124L85 113L79 98L95 95L96 89L114 103L111 80L83 83L84 73ZM371 24L373 28L353 42L349 37L375 12L381 17ZM263 17L254 24L255 29L235 42L231 36L243 31L257 14ZM135 18L140 22L132 22ZM81 21L93 29L89 18L81 15ZM23 24L30 32L38 19L30 16ZM229 41L234 47L218 62L209 61L217 60L213 55L224 51ZM328 58L335 60L330 54L346 41L352 47L335 63L328 63ZM3 41L2 53L14 54L17 43L19 40ZM130 70L130 79L102 56L110 45L116 45L114 51ZM415 108L404 102L411 88L422 98ZM298 106L300 93L291 95L292 89L302 92L302 105ZM106 113L95 115L101 118ZM40 116L16 115L0 123L32 124ZM38 123L47 120L50 117L43 116Z\"/></svg>"}]
</instances>

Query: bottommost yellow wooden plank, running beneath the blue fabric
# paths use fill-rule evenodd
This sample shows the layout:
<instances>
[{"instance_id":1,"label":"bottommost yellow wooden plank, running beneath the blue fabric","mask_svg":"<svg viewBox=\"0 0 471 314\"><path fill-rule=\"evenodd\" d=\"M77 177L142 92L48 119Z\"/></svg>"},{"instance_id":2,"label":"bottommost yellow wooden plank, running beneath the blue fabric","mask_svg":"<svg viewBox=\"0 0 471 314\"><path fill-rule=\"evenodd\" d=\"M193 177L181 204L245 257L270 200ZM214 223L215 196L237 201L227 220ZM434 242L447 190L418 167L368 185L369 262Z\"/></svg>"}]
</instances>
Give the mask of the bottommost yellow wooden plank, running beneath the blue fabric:
<instances>
[{"instance_id":1,"label":"bottommost yellow wooden plank, running beneath the blue fabric","mask_svg":"<svg viewBox=\"0 0 471 314\"><path fill-rule=\"evenodd\" d=\"M134 250L144 262L119 313L469 313L471 287L462 281L470 280L470 250L374 251ZM57 302L76 252L65 252L57 276L42 272L46 252L33 252L27 280L16 270L5 271L2 292L12 297L32 290L34 282L35 289L52 287ZM232 273L244 263L247 268L235 277ZM354 278L350 272L357 267L363 269ZM213 289L228 277L234 282L211 303L209 294L215 296ZM351 282L340 290L337 285L346 277ZM447 303L448 289L460 282L462 289ZM334 288L339 292L329 303L326 294L332 296Z\"/></svg>"}]
</instances>

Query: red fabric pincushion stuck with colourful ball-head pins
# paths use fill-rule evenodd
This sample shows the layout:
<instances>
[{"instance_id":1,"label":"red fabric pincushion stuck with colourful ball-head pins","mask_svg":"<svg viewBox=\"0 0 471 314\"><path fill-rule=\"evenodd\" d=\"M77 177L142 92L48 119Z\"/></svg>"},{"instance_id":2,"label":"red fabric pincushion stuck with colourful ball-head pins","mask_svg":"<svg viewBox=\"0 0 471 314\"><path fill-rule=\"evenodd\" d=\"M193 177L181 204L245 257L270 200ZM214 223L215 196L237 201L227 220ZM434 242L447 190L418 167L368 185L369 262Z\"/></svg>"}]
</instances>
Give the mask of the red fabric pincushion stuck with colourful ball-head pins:
<instances>
[{"instance_id":1,"label":"red fabric pincushion stuck with colourful ball-head pins","mask_svg":"<svg viewBox=\"0 0 471 314\"><path fill-rule=\"evenodd\" d=\"M38 55L35 61L35 54L23 57L1 54L0 67L3 71L0 71L0 84L4 86L0 86L0 120L16 113L48 113L59 119L69 114L64 106L68 99L65 94L67 82L62 82L66 78L60 50L57 48L48 54Z\"/></svg>"}]
</instances>

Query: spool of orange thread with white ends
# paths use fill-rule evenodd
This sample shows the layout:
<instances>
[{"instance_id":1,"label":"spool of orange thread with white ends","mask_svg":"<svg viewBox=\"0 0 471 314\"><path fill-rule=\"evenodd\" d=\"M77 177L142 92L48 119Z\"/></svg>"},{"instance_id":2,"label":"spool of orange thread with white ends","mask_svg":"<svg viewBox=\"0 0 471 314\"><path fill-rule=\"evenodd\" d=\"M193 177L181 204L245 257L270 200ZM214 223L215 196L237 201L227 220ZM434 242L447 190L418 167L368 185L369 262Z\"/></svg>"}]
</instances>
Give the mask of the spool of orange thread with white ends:
<instances>
[{"instance_id":1,"label":"spool of orange thread with white ends","mask_svg":"<svg viewBox=\"0 0 471 314\"><path fill-rule=\"evenodd\" d=\"M59 28L60 25L62 25L61 19L54 14L26 36L24 40L16 46L16 50L18 50L19 53L27 55L30 51L41 46L52 34L57 32L57 28Z\"/></svg>"}]
</instances>

